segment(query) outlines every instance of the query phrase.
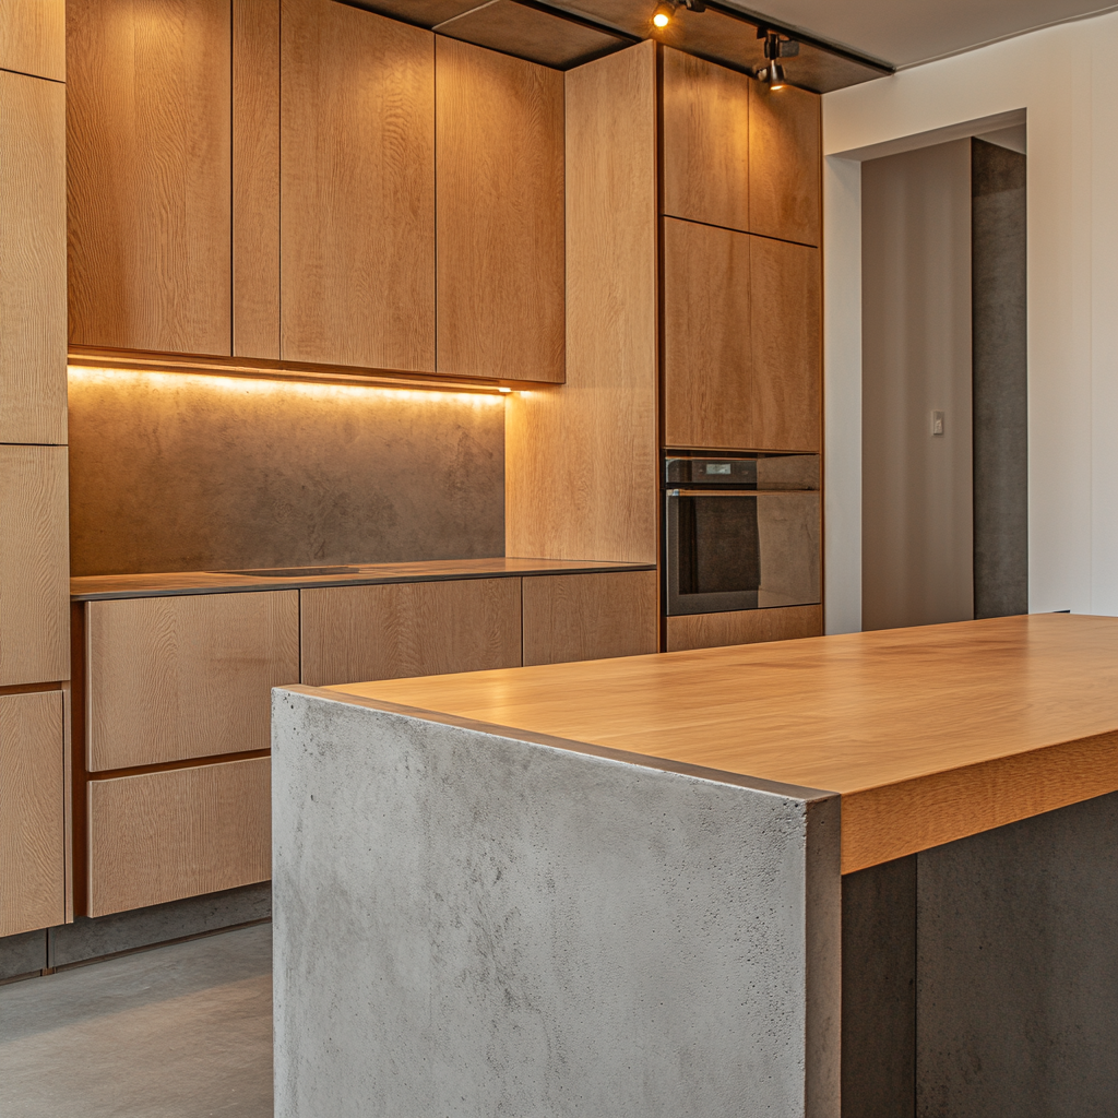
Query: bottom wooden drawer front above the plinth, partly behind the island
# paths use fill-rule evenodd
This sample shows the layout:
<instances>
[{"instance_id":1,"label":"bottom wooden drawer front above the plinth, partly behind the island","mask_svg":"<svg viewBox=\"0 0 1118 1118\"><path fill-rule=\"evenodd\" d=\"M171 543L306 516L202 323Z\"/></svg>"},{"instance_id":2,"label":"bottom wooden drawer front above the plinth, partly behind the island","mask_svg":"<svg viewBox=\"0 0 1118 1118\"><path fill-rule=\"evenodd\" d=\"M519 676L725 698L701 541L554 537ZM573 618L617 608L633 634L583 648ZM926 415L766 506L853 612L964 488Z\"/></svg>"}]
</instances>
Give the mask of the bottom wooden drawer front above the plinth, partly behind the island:
<instances>
[{"instance_id":1,"label":"bottom wooden drawer front above the plinth, partly behind the island","mask_svg":"<svg viewBox=\"0 0 1118 1118\"><path fill-rule=\"evenodd\" d=\"M272 875L271 758L91 780L89 916Z\"/></svg>"}]
</instances>

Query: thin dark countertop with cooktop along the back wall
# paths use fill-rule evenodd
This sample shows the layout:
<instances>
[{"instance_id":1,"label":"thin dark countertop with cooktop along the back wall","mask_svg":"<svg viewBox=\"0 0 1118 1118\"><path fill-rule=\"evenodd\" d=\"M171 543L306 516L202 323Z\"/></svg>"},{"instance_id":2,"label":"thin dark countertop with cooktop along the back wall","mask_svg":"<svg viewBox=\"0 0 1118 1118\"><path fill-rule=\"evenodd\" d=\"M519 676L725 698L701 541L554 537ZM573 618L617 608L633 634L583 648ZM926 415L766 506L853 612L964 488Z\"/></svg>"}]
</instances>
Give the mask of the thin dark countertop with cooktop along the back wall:
<instances>
[{"instance_id":1,"label":"thin dark countertop with cooktop along the back wall","mask_svg":"<svg viewBox=\"0 0 1118 1118\"><path fill-rule=\"evenodd\" d=\"M389 582L445 582L464 578L515 578L522 575L599 575L655 570L653 563L593 562L577 559L436 559L429 562L348 563L347 575L268 577L225 571L165 575L89 575L70 579L72 601L107 598L168 598L184 594L244 594L254 590L306 590L322 586L380 586Z\"/></svg>"}]
</instances>

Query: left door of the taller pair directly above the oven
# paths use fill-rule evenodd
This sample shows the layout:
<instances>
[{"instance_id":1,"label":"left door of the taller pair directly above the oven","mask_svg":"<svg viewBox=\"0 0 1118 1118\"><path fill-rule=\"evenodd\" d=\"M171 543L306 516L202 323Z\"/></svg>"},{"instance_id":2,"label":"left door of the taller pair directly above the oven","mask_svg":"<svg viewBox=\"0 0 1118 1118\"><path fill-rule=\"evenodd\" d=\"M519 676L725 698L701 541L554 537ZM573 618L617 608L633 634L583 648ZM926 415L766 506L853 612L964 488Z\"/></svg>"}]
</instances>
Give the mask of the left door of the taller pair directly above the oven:
<instances>
[{"instance_id":1,"label":"left door of the taller pair directly above the oven","mask_svg":"<svg viewBox=\"0 0 1118 1118\"><path fill-rule=\"evenodd\" d=\"M755 238L664 218L664 444L754 446Z\"/></svg>"}]
</instances>

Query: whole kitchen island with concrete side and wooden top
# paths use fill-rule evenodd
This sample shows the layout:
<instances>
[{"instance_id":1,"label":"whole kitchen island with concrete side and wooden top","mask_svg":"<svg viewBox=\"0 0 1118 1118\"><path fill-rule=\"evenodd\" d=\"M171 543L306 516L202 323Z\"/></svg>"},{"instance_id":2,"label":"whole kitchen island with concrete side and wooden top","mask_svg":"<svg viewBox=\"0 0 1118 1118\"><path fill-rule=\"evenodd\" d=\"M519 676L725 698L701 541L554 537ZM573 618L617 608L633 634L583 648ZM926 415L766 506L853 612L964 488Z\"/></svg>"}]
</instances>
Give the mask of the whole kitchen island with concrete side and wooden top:
<instances>
[{"instance_id":1,"label":"whole kitchen island with concrete side and wooden top","mask_svg":"<svg viewBox=\"0 0 1118 1118\"><path fill-rule=\"evenodd\" d=\"M1103 1115L1118 619L274 692L281 1116Z\"/></svg>"}]
</instances>

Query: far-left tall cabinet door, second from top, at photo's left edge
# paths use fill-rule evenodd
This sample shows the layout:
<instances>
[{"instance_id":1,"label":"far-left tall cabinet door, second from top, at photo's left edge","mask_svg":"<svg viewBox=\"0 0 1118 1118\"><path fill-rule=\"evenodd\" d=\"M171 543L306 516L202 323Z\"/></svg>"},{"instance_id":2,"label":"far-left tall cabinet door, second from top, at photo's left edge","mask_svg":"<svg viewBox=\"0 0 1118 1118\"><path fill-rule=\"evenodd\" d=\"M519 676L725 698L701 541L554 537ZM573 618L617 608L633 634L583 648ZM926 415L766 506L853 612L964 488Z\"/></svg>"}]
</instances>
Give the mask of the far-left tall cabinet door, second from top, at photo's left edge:
<instances>
[{"instance_id":1,"label":"far-left tall cabinet door, second from top, at photo's left edge","mask_svg":"<svg viewBox=\"0 0 1118 1118\"><path fill-rule=\"evenodd\" d=\"M0 72L0 443L66 442L66 87Z\"/></svg>"}]
</instances>

